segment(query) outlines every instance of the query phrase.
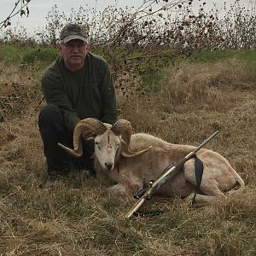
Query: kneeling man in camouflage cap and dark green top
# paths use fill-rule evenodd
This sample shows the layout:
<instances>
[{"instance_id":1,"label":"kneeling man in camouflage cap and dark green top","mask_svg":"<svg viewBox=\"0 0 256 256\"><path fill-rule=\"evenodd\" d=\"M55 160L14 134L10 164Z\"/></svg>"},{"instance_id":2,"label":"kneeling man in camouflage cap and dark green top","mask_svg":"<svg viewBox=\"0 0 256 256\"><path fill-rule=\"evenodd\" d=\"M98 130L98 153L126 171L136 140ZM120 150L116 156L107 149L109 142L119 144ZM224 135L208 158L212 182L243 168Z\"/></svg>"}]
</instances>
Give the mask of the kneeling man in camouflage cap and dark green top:
<instances>
[{"instance_id":1,"label":"kneeling man in camouflage cap and dark green top","mask_svg":"<svg viewBox=\"0 0 256 256\"><path fill-rule=\"evenodd\" d=\"M47 172L52 180L67 175L73 168L86 168L94 174L93 143L83 142L84 154L79 159L71 157L57 143L73 147L73 130L80 119L93 117L113 124L118 113L108 64L89 52L84 28L68 24L62 28L60 39L61 56L42 77L47 106L38 117Z\"/></svg>"}]
</instances>

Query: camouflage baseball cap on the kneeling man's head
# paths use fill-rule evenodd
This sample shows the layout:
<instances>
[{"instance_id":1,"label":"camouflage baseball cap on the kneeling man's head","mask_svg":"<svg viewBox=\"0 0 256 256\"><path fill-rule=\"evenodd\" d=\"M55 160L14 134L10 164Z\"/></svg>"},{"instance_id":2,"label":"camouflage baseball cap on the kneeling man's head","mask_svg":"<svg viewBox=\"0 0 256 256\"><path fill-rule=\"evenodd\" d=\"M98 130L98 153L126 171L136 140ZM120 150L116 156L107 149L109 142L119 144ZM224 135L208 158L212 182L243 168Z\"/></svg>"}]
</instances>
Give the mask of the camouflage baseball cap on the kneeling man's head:
<instances>
[{"instance_id":1,"label":"camouflage baseball cap on the kneeling man's head","mask_svg":"<svg viewBox=\"0 0 256 256\"><path fill-rule=\"evenodd\" d=\"M87 33L83 26L79 24L67 24L61 30L61 43L67 43L70 40L79 39L87 42Z\"/></svg>"}]
</instances>

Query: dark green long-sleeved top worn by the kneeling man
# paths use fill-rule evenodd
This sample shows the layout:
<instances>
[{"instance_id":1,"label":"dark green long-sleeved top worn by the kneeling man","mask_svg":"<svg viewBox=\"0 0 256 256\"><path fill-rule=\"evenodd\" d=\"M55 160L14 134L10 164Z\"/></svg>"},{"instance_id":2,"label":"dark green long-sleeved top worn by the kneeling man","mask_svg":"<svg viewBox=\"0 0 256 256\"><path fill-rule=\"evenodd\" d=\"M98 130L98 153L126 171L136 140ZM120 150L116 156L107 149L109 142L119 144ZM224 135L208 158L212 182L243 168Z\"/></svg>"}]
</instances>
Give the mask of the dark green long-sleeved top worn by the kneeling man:
<instances>
[{"instance_id":1,"label":"dark green long-sleeved top worn by the kneeling man","mask_svg":"<svg viewBox=\"0 0 256 256\"><path fill-rule=\"evenodd\" d=\"M61 108L70 131L80 119L92 117L104 123L117 120L118 102L107 62L88 53L84 67L71 72L58 57L45 71L42 90L47 104Z\"/></svg>"}]
</instances>

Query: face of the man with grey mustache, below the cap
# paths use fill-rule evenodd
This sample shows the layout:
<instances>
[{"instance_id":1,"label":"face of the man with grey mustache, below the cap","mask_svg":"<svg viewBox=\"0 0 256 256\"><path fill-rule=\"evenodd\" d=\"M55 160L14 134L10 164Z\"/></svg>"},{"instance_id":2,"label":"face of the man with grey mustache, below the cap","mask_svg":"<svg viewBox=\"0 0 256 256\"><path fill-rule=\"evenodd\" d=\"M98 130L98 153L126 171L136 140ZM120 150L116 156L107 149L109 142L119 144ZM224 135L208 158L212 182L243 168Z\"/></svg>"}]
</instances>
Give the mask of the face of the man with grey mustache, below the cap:
<instances>
[{"instance_id":1,"label":"face of the man with grey mustache, below the cap","mask_svg":"<svg viewBox=\"0 0 256 256\"><path fill-rule=\"evenodd\" d=\"M84 66L84 58L88 50L88 44L79 39L73 39L66 44L61 44L61 55L66 67L71 71L81 69Z\"/></svg>"}]
</instances>

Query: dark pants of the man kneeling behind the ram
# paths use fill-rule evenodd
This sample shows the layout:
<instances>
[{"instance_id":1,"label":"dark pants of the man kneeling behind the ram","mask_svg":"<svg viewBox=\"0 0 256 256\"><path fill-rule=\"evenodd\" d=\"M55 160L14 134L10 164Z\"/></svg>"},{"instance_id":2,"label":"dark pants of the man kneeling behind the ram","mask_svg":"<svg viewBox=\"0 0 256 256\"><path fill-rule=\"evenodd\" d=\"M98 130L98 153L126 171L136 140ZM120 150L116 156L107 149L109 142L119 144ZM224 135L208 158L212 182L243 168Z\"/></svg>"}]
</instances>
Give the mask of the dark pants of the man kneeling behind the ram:
<instances>
[{"instance_id":1,"label":"dark pants of the man kneeling behind the ram","mask_svg":"<svg viewBox=\"0 0 256 256\"><path fill-rule=\"evenodd\" d=\"M73 148L73 132L68 131L61 109L54 104L44 107L38 116L39 131L44 143L47 172L51 174L67 174L71 169L88 169L95 175L93 160L94 143L83 141L83 155L74 158L57 145L61 143Z\"/></svg>"}]
</instances>

